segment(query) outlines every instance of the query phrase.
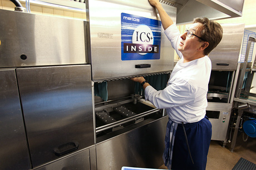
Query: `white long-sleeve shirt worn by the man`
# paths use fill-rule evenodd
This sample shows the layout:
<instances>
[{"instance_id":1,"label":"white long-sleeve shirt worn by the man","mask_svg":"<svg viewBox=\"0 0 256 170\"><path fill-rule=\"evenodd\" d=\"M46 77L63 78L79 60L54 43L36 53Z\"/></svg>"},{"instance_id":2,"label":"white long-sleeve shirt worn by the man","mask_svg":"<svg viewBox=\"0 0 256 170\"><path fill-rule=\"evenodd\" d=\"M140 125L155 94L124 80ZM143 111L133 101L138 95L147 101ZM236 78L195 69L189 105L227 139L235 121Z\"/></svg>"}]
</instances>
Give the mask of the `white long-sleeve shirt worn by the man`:
<instances>
[{"instance_id":1,"label":"white long-sleeve shirt worn by the man","mask_svg":"<svg viewBox=\"0 0 256 170\"><path fill-rule=\"evenodd\" d=\"M145 99L159 109L166 109L174 122L198 122L204 118L207 107L207 91L211 73L211 61L206 55L183 63L183 55L177 50L180 33L173 24L165 30L173 48L180 56L164 90L152 86L145 89Z\"/></svg>"}]
</instances>

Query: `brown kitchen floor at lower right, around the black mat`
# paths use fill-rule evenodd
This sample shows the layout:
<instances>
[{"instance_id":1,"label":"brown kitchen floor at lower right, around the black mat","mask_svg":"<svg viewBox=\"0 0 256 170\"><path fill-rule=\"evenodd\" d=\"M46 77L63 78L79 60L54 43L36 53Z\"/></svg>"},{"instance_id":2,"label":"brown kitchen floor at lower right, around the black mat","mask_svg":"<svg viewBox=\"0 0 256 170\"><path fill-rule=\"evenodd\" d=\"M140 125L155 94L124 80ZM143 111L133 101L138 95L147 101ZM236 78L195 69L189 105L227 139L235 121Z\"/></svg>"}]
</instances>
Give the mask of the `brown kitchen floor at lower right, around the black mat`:
<instances>
[{"instance_id":1,"label":"brown kitchen floor at lower right, around the black mat","mask_svg":"<svg viewBox=\"0 0 256 170\"><path fill-rule=\"evenodd\" d=\"M231 170L241 157L256 164L256 138L249 137L244 142L243 133L241 133L238 135L233 153L230 152L230 146L231 143L227 143L227 146L223 147L221 141L211 141L206 170ZM159 169L167 168L161 166Z\"/></svg>"}]
</instances>

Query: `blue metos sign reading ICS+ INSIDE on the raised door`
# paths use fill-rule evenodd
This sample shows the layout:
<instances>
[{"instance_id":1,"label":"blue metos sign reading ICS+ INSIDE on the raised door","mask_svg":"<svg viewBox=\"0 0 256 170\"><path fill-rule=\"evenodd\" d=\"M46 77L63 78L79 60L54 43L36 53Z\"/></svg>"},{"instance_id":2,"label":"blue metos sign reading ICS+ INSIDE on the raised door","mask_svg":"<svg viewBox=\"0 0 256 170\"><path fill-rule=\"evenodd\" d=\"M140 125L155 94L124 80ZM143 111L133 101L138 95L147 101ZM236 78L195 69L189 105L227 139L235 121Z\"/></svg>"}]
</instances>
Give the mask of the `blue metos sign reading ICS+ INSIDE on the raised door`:
<instances>
[{"instance_id":1,"label":"blue metos sign reading ICS+ INSIDE on the raised door","mask_svg":"<svg viewBox=\"0 0 256 170\"><path fill-rule=\"evenodd\" d=\"M121 13L122 60L160 59L161 21Z\"/></svg>"}]
</instances>

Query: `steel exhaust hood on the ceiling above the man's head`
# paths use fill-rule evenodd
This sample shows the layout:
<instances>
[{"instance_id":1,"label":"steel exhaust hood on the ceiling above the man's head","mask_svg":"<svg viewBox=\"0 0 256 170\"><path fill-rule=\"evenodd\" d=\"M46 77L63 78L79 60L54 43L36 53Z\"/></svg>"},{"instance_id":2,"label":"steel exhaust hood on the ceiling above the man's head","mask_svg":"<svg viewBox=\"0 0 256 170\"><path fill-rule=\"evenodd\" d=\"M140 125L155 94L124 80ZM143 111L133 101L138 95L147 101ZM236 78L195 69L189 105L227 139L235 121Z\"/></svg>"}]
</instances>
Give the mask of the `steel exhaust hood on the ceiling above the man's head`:
<instances>
[{"instance_id":1,"label":"steel exhaust hood on the ceiling above the man's head","mask_svg":"<svg viewBox=\"0 0 256 170\"><path fill-rule=\"evenodd\" d=\"M241 17L244 0L160 0L177 8L177 24L191 23L196 17L224 19Z\"/></svg>"}]
</instances>

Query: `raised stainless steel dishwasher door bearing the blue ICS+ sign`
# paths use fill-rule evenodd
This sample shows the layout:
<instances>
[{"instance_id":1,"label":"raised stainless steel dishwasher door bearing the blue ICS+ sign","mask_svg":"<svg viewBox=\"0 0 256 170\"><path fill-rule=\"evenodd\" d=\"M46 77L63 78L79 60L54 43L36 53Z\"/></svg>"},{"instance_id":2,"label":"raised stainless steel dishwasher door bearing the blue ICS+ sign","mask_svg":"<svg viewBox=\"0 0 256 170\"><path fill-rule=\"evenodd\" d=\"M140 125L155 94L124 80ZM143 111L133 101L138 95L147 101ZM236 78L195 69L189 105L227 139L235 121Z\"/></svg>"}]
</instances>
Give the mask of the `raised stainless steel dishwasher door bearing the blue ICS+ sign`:
<instances>
[{"instance_id":1,"label":"raised stainless steel dishwasher door bearing the blue ICS+ sign","mask_svg":"<svg viewBox=\"0 0 256 170\"><path fill-rule=\"evenodd\" d=\"M176 8L162 4L176 22ZM92 80L169 72L174 49L148 1L88 1Z\"/></svg>"}]
</instances>

